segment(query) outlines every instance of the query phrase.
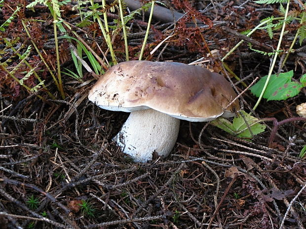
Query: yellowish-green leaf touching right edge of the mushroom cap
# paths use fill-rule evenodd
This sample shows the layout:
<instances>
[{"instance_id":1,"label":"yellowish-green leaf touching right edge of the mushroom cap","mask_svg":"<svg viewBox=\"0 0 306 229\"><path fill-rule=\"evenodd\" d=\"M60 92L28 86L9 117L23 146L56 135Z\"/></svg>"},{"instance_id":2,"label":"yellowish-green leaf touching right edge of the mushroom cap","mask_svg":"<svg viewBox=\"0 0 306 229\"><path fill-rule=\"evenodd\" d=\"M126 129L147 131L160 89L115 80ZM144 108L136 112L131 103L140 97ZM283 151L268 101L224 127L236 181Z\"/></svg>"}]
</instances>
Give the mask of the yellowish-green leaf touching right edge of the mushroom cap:
<instances>
[{"instance_id":1,"label":"yellowish-green leaf touching right edge of the mushroom cap","mask_svg":"<svg viewBox=\"0 0 306 229\"><path fill-rule=\"evenodd\" d=\"M236 116L232 123L227 119L216 119L211 124L240 138L252 138L254 135L265 131L266 125L260 124L257 118L245 111L240 111L240 113L242 115Z\"/></svg>"}]
</instances>

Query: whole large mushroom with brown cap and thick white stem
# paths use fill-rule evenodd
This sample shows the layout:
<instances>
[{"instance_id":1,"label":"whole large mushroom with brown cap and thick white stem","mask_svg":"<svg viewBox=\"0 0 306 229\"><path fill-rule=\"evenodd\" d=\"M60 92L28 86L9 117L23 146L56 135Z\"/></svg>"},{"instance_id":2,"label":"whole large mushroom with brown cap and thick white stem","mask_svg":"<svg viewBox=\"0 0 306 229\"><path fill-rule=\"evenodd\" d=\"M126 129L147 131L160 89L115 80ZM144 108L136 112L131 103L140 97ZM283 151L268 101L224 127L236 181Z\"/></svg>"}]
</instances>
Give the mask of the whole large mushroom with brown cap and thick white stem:
<instances>
[{"instance_id":1,"label":"whole large mushroom with brown cap and thick white stem","mask_svg":"<svg viewBox=\"0 0 306 229\"><path fill-rule=\"evenodd\" d=\"M115 140L135 162L166 157L173 149L180 119L207 122L234 116L239 103L224 76L200 66L174 62L129 61L110 68L88 98L106 110L131 112ZM225 109L225 107L227 107Z\"/></svg>"}]
</instances>

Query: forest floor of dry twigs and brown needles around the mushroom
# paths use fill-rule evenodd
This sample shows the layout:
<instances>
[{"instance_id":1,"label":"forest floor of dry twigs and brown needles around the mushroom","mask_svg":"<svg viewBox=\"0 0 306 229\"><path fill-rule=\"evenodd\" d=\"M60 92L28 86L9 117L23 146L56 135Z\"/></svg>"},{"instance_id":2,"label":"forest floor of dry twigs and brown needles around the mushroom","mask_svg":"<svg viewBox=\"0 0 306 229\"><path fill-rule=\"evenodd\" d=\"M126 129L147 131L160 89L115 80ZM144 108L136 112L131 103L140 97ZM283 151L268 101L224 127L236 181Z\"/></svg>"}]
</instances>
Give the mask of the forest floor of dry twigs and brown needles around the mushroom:
<instances>
[{"instance_id":1,"label":"forest floor of dry twigs and brown needles around the mushroom","mask_svg":"<svg viewBox=\"0 0 306 229\"><path fill-rule=\"evenodd\" d=\"M218 49L219 55L225 56L241 39L235 31L254 28L261 19L279 13L276 5L265 8L253 2L239 8L243 2L215 1L214 6L209 5L209 10L204 11L205 17L198 16L204 22L199 23L200 28L185 26L192 23L189 14L177 22L176 29L173 23L158 22L155 18L144 57L183 63L204 57L209 61L205 63L207 67L221 71L218 55L210 56L208 50ZM13 12L14 3L5 1L0 20ZM22 0L17 3L26 5ZM189 6L180 5L180 1L171 3L185 11ZM207 4L190 1L198 10ZM72 6L69 3L63 7L63 19L73 24L79 18ZM297 4L293 6L300 10ZM180 8L176 10L182 12ZM45 51L50 65L55 66L54 42L49 40L53 37L52 18L42 5L35 7L35 12L23 8L2 37L11 40L20 37L15 46L27 44L21 18L43 19L44 22L31 22L31 34L39 49ZM112 16L115 14L110 13L109 17ZM142 16L137 16L128 23L132 26L131 59L137 59L146 22L146 18L142 21ZM288 25L282 47L291 44L296 27L294 23ZM88 44L95 47L97 41L102 50L107 49L101 34L92 36L93 31L98 31L96 24L83 30L90 35L86 38L79 32ZM175 34L170 42L150 56L153 47L170 34ZM250 42L266 52L277 45L277 39L269 39L264 31L254 33ZM119 35L114 46L118 60L124 61L124 45ZM2 42L1 49L6 52L2 54L2 63L12 55L4 47ZM297 75L305 73L305 47L305 43L302 47L297 45L300 51L289 57L286 70L295 69ZM61 40L61 65L74 70L67 50L68 42ZM95 51L99 54L97 47ZM4 71L0 73L1 229L278 229L280 225L283 229L305 228L306 163L298 157L306 140L304 122L288 122L279 127L268 148L272 122L266 123L264 133L245 141L206 123L182 121L178 143L168 158L136 164L112 142L128 114L102 110L88 101L88 90L94 83L90 74L85 73L85 83L66 76L63 85L67 98L62 100L34 50L29 62L44 70L39 74L56 99L43 91L38 95L44 100L37 94L29 96ZM247 85L256 76L266 75L269 63L268 56L250 50L246 43L227 62ZM13 58L8 67L17 64L18 59ZM27 70L24 66L16 75L22 78ZM37 81L33 77L27 84L35 85ZM235 86L239 92L245 89L239 82ZM256 98L247 91L241 101L249 111ZM285 101L263 100L253 115L275 117L278 121L297 117L295 107L302 102L305 89Z\"/></svg>"}]
</instances>

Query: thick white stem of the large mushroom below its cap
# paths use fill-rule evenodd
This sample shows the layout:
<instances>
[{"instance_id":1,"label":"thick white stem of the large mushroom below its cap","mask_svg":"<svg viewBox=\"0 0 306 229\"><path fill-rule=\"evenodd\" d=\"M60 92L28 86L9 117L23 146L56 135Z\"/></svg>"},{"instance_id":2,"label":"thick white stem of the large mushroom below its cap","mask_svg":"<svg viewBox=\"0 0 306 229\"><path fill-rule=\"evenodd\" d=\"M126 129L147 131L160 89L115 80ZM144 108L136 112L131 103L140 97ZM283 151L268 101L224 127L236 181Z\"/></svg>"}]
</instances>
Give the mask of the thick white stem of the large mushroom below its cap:
<instances>
[{"instance_id":1,"label":"thick white stem of the large mushroom below its cap","mask_svg":"<svg viewBox=\"0 0 306 229\"><path fill-rule=\"evenodd\" d=\"M166 157L178 136L180 120L153 109L131 112L121 131L117 145L135 162L152 160L153 151Z\"/></svg>"}]
</instances>

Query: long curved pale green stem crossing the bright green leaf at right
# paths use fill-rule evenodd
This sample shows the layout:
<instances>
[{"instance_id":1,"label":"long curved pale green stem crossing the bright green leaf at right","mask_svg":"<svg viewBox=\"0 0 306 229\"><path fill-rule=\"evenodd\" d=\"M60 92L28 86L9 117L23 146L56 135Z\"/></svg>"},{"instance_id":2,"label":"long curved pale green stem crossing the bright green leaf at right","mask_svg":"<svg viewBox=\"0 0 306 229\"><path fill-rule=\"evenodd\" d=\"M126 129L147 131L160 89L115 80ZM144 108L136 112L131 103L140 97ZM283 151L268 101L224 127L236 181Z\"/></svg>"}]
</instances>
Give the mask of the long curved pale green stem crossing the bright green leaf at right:
<instances>
[{"instance_id":1,"label":"long curved pale green stem crossing the bright green leaf at right","mask_svg":"<svg viewBox=\"0 0 306 229\"><path fill-rule=\"evenodd\" d=\"M266 80L266 83L264 85L264 88L255 104L255 106L253 107L253 110L255 110L257 108L257 106L259 105L260 101L262 100L263 96L264 96L264 93L268 87L268 82L270 80L270 77L272 75L272 72L273 72L273 68L274 68L274 65L276 63L276 59L277 59L277 56L278 56L278 50L280 48L280 45L281 45L281 41L282 41L282 38L283 38L283 35L284 35L284 31L285 31L285 26L286 26L286 22L285 20L287 19L287 16L288 16L288 11L289 11L289 3L290 3L290 0L287 0L287 7L286 7L286 12L285 12L285 17L284 17L284 22L283 22L283 27L282 27L282 30L280 32L280 36L279 36L279 40L278 40L278 44L277 44L277 48L275 50L275 54L274 54L274 58L273 58L273 62L272 62L272 65L270 66L270 70L269 70L269 73L268 73L268 77L267 77L267 80Z\"/></svg>"}]
</instances>

